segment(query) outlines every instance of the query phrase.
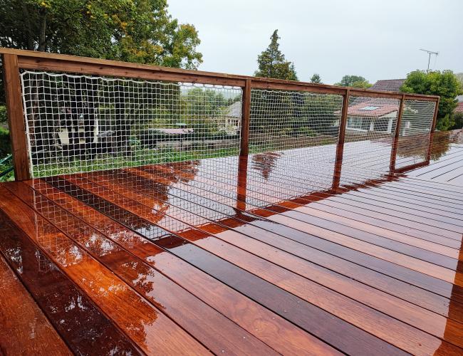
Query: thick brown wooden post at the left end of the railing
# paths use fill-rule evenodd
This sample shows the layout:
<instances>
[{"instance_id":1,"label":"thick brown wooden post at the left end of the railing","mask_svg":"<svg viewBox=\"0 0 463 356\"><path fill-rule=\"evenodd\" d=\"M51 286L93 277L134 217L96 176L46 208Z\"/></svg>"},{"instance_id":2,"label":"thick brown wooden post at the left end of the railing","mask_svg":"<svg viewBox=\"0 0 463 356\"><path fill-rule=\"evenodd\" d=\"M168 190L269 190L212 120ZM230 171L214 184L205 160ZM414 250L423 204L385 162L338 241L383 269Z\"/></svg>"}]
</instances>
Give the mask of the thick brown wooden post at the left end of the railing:
<instances>
[{"instance_id":1,"label":"thick brown wooden post at the left end of the railing","mask_svg":"<svg viewBox=\"0 0 463 356\"><path fill-rule=\"evenodd\" d=\"M13 152L14 176L16 180L31 179L26 139L26 122L24 121L21 82L19 80L18 56L4 54L2 63L6 112L8 114L11 151Z\"/></svg>"}]
</instances>

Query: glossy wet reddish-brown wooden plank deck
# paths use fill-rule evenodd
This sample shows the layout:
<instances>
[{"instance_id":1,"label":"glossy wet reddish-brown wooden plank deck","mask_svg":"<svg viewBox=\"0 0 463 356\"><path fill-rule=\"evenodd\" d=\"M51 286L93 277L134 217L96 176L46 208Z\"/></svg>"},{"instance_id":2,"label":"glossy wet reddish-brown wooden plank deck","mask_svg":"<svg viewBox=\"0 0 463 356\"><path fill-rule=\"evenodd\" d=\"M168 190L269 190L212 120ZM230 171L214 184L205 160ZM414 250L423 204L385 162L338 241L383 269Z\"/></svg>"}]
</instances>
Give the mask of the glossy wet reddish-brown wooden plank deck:
<instances>
[{"instance_id":1,"label":"glossy wet reddish-brown wooden plank deck","mask_svg":"<svg viewBox=\"0 0 463 356\"><path fill-rule=\"evenodd\" d=\"M337 192L272 155L1 184L0 353L462 355L463 141L435 136Z\"/></svg>"}]
</instances>

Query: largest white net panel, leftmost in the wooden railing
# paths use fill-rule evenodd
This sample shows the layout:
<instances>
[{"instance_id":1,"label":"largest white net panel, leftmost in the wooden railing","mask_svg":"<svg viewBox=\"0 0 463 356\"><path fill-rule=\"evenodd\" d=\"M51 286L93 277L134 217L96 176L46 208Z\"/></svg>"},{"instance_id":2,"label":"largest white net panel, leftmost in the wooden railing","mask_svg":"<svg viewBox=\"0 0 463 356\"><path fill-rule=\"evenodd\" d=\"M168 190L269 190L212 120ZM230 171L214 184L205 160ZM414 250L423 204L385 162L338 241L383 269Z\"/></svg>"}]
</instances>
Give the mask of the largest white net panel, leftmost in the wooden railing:
<instances>
[{"instance_id":1,"label":"largest white net panel, leftmost in the wooden railing","mask_svg":"<svg viewBox=\"0 0 463 356\"><path fill-rule=\"evenodd\" d=\"M237 155L241 88L25 71L33 177Z\"/></svg>"}]
</instances>

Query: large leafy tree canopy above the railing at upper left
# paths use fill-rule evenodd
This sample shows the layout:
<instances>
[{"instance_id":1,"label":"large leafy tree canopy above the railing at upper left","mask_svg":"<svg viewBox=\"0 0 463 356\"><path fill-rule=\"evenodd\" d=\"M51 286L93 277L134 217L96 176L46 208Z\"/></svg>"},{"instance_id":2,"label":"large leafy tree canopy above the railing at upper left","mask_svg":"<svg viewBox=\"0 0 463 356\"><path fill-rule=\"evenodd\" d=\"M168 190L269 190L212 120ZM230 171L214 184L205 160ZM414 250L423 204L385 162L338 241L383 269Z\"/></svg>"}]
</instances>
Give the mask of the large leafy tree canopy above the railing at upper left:
<instances>
[{"instance_id":1,"label":"large leafy tree canopy above the railing at upper left","mask_svg":"<svg viewBox=\"0 0 463 356\"><path fill-rule=\"evenodd\" d=\"M0 0L0 46L197 68L194 26L167 0Z\"/></svg>"}]
</instances>

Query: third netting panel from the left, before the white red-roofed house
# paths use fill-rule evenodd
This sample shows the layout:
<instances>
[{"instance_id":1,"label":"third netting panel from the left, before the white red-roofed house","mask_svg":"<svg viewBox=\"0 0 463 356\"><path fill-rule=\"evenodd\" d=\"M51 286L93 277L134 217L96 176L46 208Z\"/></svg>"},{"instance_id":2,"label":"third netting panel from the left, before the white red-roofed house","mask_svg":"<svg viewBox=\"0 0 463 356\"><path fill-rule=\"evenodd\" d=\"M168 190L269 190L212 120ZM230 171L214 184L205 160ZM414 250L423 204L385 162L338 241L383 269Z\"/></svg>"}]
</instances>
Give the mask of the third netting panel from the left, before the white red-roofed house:
<instances>
[{"instance_id":1,"label":"third netting panel from the left, before the white red-roofed house","mask_svg":"<svg viewBox=\"0 0 463 356\"><path fill-rule=\"evenodd\" d=\"M390 98L349 98L341 183L388 172L399 105Z\"/></svg>"}]
</instances>

